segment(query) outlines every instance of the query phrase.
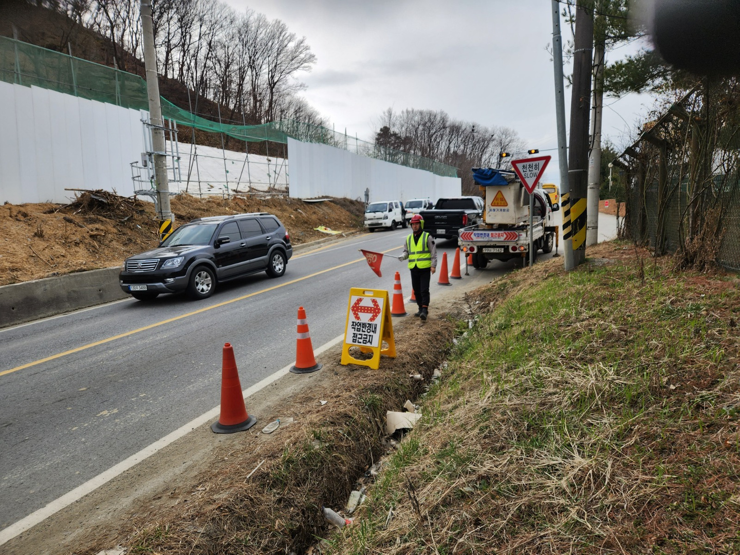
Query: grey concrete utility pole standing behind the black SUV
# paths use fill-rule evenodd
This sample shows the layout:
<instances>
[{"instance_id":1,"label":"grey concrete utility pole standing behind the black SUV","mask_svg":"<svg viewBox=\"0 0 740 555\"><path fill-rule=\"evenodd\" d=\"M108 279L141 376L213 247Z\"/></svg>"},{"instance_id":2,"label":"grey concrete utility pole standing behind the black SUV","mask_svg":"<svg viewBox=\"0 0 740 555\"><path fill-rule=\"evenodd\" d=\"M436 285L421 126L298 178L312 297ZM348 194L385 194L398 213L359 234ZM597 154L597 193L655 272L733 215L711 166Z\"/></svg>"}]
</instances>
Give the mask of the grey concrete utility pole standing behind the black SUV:
<instances>
[{"instance_id":1,"label":"grey concrete utility pole standing behind the black SUV","mask_svg":"<svg viewBox=\"0 0 740 555\"><path fill-rule=\"evenodd\" d=\"M147 70L147 96L149 97L149 121L152 129L154 150L154 180L157 186L156 209L159 217L159 239L164 240L172 233L175 216L169 209L169 186L167 184L167 157L164 147L164 121L159 100L157 55L154 50L154 26L152 24L152 0L141 0L141 34L144 39L144 68Z\"/></svg>"}]
</instances>

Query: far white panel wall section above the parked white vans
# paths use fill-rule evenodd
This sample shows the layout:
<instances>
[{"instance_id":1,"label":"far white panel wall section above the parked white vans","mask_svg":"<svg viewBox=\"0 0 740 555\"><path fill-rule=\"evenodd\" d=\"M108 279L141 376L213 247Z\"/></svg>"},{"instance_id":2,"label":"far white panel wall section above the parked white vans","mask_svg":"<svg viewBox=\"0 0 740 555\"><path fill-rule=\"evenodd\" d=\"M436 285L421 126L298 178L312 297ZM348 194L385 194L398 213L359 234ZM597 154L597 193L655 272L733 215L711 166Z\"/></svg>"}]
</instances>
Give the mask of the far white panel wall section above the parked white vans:
<instances>
[{"instance_id":1,"label":"far white panel wall section above the parked white vans","mask_svg":"<svg viewBox=\"0 0 740 555\"><path fill-rule=\"evenodd\" d=\"M422 169L367 158L326 144L288 139L290 196L347 197L369 201L460 196L460 178L445 178Z\"/></svg>"}]
</instances>

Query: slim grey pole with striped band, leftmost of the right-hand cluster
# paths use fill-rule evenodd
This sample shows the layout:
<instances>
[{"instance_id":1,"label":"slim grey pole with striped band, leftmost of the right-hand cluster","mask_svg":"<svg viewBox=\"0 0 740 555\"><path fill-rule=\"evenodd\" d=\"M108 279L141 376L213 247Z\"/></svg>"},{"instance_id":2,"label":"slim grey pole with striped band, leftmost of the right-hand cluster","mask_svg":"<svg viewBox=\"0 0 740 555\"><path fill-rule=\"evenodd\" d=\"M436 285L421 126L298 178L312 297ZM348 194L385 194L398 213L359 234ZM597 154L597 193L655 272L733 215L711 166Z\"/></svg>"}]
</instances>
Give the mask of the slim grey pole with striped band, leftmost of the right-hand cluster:
<instances>
[{"instance_id":1,"label":"slim grey pole with striped band, leftmost of the right-hand cluster","mask_svg":"<svg viewBox=\"0 0 740 555\"><path fill-rule=\"evenodd\" d=\"M569 198L568 192L568 147L565 138L565 92L562 82L562 38L560 36L560 3L552 0L553 16L553 64L555 74L555 116L557 121L557 159L560 167L560 210L563 215L565 226L565 215L571 213L571 205L566 202ZM565 199L565 200L563 200ZM565 240L562 254L565 261L565 269L573 269L573 241Z\"/></svg>"}]
</instances>

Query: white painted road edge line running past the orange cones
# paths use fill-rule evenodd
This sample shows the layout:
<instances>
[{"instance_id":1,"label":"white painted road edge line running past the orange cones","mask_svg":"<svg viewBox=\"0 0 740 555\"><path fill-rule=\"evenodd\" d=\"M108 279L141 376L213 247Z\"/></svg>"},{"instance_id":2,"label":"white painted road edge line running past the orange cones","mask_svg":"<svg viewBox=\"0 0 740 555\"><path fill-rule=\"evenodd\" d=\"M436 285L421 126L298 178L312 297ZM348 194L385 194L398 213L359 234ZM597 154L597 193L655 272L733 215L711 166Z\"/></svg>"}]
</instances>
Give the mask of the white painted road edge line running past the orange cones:
<instances>
[{"instance_id":1,"label":"white painted road edge line running past the orange cones","mask_svg":"<svg viewBox=\"0 0 740 555\"><path fill-rule=\"evenodd\" d=\"M340 343L343 340L344 334L334 337L334 339L330 340L329 343L325 343L318 349L314 349L314 356L331 349L333 346L337 345L337 343ZM290 369L292 368L292 366L294 366L294 364L295 363L291 363L288 366L285 366L283 369L280 369L274 374L259 381L258 383L255 383L254 386L246 388L242 392L243 397L249 397L250 395L253 395L260 391L260 389L269 386L272 382L278 380L280 377L289 374ZM10 539L19 536L20 534L23 534L25 531L30 530L30 528L33 528L33 526L37 525L39 522L42 522L44 519L51 517L53 514L61 511L63 508L72 505L73 502L78 501L78 499L81 499L90 492L95 491L106 482L110 482L110 480L117 477L119 474L124 473L129 468L132 468L132 466L138 464L138 462L151 457L153 454L164 449L170 443L174 443L181 437L184 437L184 435L188 434L190 431L194 430L195 428L199 428L205 423L208 423L210 420L213 420L220 414L221 405L212 408L205 414L201 414L201 416L195 418L195 420L190 420L190 422L186 425L183 425L175 431L170 432L169 434L162 437L160 440L155 441L151 445L147 445L147 447L141 449L141 451L138 451L138 453L132 454L131 457L127 458L126 460L118 462L117 465L114 465L111 468L108 468L107 471L103 471L96 477L87 480L87 482L84 482L84 484L78 485L72 491L69 491L67 492L67 494L58 497L58 499L54 499L45 507L38 509L38 511L34 511L27 517L20 519L18 522L14 522L7 528L4 528L4 530L0 531L0 545L3 545L5 542L10 541Z\"/></svg>"}]
</instances>

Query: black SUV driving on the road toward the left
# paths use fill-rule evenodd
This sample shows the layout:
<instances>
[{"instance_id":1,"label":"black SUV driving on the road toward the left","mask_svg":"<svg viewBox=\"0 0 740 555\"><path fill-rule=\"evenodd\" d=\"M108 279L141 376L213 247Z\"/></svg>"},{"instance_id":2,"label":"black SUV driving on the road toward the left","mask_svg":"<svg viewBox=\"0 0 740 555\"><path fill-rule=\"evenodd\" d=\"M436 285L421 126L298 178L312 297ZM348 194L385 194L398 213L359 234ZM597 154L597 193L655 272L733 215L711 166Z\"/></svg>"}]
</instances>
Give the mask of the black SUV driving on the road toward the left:
<instances>
[{"instance_id":1,"label":"black SUV driving on the road toward the left","mask_svg":"<svg viewBox=\"0 0 740 555\"><path fill-rule=\"evenodd\" d=\"M292 255L288 232L267 212L197 218L127 258L118 280L138 300L181 291L204 299L222 281L263 271L280 277Z\"/></svg>"}]
</instances>

